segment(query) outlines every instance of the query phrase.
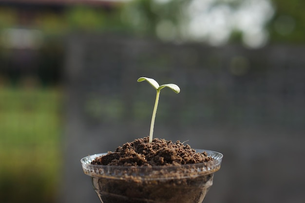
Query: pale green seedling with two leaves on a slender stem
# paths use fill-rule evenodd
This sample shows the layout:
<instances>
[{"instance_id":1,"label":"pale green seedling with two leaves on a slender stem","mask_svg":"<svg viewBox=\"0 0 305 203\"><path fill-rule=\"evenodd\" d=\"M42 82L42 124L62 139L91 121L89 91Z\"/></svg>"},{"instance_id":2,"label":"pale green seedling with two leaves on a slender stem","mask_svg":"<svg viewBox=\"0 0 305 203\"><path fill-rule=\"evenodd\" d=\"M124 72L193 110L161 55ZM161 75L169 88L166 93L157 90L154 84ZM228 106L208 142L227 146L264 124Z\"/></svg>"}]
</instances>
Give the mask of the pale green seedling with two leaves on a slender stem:
<instances>
[{"instance_id":1,"label":"pale green seedling with two leaves on a slender stem","mask_svg":"<svg viewBox=\"0 0 305 203\"><path fill-rule=\"evenodd\" d=\"M138 82L147 81L148 83L150 83L152 85L153 88L155 88L157 90L156 100L155 100L153 111L152 111L151 130L150 130L150 134L149 134L149 142L151 143L152 142L154 119L156 117L156 112L157 112L157 107L158 107L158 102L159 102L159 95L160 95L161 89L163 89L164 87L169 87L169 88L172 89L172 91L174 91L175 93L178 94L180 92L180 88L176 84L162 84L162 85L159 85L158 82L153 80L152 78L141 77L137 81Z\"/></svg>"}]
</instances>

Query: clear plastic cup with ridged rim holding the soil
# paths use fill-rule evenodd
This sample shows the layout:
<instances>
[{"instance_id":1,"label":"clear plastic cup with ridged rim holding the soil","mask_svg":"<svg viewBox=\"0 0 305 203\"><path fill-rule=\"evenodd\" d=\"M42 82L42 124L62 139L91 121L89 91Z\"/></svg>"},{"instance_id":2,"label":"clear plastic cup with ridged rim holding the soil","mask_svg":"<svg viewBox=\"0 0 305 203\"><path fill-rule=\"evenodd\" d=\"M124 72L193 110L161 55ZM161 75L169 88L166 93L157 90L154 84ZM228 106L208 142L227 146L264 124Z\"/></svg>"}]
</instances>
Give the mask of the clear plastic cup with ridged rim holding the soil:
<instances>
[{"instance_id":1,"label":"clear plastic cup with ridged rim holding the soil","mask_svg":"<svg viewBox=\"0 0 305 203\"><path fill-rule=\"evenodd\" d=\"M211 162L181 166L107 166L90 164L95 154L81 159L102 203L202 203L220 169L223 155L207 152Z\"/></svg>"}]
</instances>

